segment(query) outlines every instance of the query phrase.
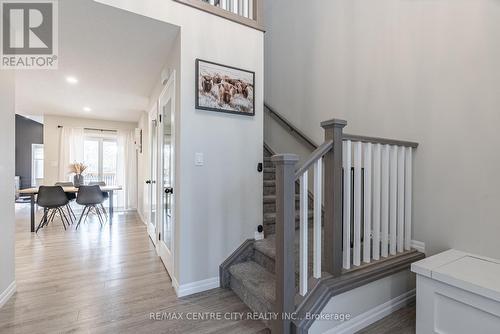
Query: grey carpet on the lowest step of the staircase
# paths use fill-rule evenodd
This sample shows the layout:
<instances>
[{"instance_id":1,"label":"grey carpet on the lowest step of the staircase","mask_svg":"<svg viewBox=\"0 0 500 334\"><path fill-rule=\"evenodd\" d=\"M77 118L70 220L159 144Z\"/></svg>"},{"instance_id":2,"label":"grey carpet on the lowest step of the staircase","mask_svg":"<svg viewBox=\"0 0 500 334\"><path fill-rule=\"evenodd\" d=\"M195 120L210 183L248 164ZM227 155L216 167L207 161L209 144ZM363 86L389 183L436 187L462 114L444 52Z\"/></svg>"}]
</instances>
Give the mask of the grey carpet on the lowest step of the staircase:
<instances>
[{"instance_id":1,"label":"grey carpet on the lowest step of the staircase","mask_svg":"<svg viewBox=\"0 0 500 334\"><path fill-rule=\"evenodd\" d=\"M276 277L254 261L235 264L229 268L231 275L238 279L252 295L274 303Z\"/></svg>"}]
</instances>

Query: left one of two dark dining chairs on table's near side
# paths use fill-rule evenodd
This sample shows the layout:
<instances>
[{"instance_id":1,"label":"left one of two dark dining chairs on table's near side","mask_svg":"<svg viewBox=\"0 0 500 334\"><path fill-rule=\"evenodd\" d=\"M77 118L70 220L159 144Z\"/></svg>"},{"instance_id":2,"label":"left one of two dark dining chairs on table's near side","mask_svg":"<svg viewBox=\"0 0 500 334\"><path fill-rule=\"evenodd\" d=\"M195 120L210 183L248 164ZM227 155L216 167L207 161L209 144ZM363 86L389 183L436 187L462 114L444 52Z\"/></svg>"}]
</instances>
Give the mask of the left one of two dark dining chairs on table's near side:
<instances>
[{"instance_id":1,"label":"left one of two dark dining chairs on table's near side","mask_svg":"<svg viewBox=\"0 0 500 334\"><path fill-rule=\"evenodd\" d=\"M63 208L68 205L68 203L68 197L62 187L41 186L38 189L37 205L42 207L44 212L43 217L36 229L36 233L38 233L40 228L45 227L52 222L56 214L61 218L64 229L66 230L66 223L68 223L69 226L70 221L64 213Z\"/></svg>"}]
</instances>

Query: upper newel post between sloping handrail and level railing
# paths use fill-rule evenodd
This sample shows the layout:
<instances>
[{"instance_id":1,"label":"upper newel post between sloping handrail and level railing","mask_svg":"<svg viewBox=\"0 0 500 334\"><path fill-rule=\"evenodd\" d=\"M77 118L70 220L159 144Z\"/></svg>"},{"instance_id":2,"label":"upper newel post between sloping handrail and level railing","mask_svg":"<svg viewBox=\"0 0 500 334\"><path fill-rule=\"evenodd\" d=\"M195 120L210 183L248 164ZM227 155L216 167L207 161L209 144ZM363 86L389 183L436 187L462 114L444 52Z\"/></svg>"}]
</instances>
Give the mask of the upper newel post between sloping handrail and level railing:
<instances>
[{"instance_id":1,"label":"upper newel post between sloping handrail and level railing","mask_svg":"<svg viewBox=\"0 0 500 334\"><path fill-rule=\"evenodd\" d=\"M333 148L324 156L325 216L324 268L333 276L342 274L342 137L347 122L332 119L321 123L325 140L333 140Z\"/></svg>"}]
</instances>

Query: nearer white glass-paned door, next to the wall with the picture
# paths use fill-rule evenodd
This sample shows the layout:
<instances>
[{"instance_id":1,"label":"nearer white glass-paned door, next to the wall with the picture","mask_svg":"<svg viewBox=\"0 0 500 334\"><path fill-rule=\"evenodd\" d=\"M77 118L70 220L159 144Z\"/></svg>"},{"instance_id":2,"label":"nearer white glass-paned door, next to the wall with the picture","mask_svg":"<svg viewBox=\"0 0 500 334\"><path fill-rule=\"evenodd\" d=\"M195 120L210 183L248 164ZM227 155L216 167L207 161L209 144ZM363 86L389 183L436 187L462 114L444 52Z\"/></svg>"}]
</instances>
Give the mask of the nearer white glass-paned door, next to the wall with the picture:
<instances>
[{"instance_id":1,"label":"nearer white glass-paned door, next to the wall with the picture","mask_svg":"<svg viewBox=\"0 0 500 334\"><path fill-rule=\"evenodd\" d=\"M170 276L174 274L175 196L175 73L160 96L158 168L158 253Z\"/></svg>"}]
</instances>

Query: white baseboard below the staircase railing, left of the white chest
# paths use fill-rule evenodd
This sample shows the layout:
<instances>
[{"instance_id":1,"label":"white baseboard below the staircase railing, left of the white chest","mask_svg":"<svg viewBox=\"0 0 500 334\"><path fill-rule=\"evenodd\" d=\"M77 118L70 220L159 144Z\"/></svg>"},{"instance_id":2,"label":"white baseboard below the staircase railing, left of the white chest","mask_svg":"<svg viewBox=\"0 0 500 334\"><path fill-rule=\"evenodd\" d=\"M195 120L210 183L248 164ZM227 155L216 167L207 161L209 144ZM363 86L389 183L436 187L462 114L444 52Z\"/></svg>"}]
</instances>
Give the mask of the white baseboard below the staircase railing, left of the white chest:
<instances>
[{"instance_id":1,"label":"white baseboard below the staircase railing, left of the white chest","mask_svg":"<svg viewBox=\"0 0 500 334\"><path fill-rule=\"evenodd\" d=\"M387 317L393 312L396 312L403 306L407 305L415 298L415 289L408 291L388 302L372 308L371 310L360 314L343 324L332 328L326 334L354 334L363 328Z\"/></svg>"}]
</instances>

